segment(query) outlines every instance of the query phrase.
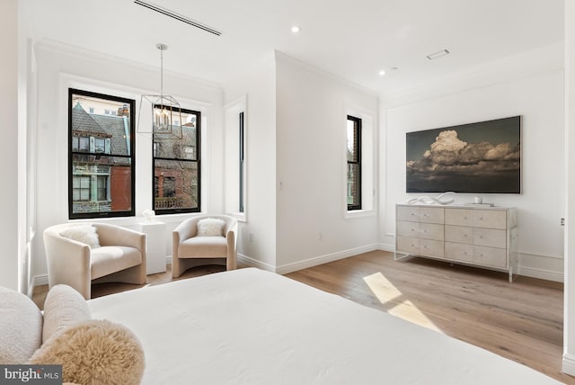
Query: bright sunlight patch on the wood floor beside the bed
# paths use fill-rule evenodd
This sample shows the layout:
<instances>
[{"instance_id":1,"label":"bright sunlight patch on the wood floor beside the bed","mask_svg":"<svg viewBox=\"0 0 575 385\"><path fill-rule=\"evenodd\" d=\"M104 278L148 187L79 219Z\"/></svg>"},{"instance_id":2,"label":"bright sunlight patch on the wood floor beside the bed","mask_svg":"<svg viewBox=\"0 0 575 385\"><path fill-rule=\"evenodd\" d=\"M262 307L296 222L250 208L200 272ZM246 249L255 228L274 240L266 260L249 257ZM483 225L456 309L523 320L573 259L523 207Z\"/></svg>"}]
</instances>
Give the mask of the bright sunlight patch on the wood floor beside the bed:
<instances>
[{"instance_id":1,"label":"bright sunlight patch on the wood floor beside the bed","mask_svg":"<svg viewBox=\"0 0 575 385\"><path fill-rule=\"evenodd\" d=\"M387 306L387 312L397 318L441 332L441 330L420 309L411 302L404 300L403 294L382 273L364 277L367 286L376 295L377 300Z\"/></svg>"}]
</instances>

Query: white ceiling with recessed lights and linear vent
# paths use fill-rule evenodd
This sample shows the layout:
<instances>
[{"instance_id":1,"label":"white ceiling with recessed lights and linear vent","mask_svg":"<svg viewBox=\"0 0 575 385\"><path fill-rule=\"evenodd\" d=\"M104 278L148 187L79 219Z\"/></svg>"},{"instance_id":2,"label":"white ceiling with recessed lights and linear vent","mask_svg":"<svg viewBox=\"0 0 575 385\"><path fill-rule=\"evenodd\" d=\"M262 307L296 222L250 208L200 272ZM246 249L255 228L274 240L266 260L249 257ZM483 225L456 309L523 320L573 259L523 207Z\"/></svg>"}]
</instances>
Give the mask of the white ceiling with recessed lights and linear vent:
<instances>
[{"instance_id":1,"label":"white ceiling with recessed lights and linear vent","mask_svg":"<svg viewBox=\"0 0 575 385\"><path fill-rule=\"evenodd\" d=\"M221 36L133 0L21 1L37 40L155 67L161 42L166 70L223 85L276 49L389 96L563 40L563 0L150 0Z\"/></svg>"}]
</instances>

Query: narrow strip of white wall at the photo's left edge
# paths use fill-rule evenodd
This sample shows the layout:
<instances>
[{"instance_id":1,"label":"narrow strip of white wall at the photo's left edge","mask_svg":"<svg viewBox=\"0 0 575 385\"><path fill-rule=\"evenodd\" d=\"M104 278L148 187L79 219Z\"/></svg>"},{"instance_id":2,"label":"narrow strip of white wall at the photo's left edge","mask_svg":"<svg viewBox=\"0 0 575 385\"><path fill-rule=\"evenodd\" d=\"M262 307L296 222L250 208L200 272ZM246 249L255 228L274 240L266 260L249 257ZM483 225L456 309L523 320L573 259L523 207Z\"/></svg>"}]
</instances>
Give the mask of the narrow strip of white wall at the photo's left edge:
<instances>
[{"instance_id":1,"label":"narrow strip of white wall at the photo's left edge","mask_svg":"<svg viewBox=\"0 0 575 385\"><path fill-rule=\"evenodd\" d=\"M3 165L0 199L4 202L0 216L0 286L19 289L19 178L18 178L18 2L0 3L0 132Z\"/></svg>"}]
</instances>

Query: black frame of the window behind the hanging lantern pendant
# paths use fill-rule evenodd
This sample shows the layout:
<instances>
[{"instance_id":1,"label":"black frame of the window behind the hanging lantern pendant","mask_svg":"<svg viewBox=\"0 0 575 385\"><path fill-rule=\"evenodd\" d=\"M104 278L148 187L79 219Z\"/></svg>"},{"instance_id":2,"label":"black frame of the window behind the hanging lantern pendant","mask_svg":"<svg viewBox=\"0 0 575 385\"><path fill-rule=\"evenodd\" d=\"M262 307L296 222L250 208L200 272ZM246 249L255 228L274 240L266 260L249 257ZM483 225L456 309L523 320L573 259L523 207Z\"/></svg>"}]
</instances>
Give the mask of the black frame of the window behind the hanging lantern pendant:
<instances>
[{"instance_id":1,"label":"black frame of the window behind the hanging lantern pendant","mask_svg":"<svg viewBox=\"0 0 575 385\"><path fill-rule=\"evenodd\" d=\"M154 108L162 108L162 104L154 104ZM188 114L195 114L196 115L196 154L195 159L186 159L184 157L156 157L157 152L159 149L162 148L162 142L156 141L157 140L170 140L170 136L166 137L165 134L152 134L152 207L155 210L155 214L157 215L167 215L167 214L185 214L191 212L200 212L201 211L201 112L184 109L181 108L180 111L182 113ZM180 121L181 124L181 121ZM180 126L181 127L181 126ZM156 138L156 135L158 138ZM182 132L183 135L183 132ZM185 145L184 145L185 147ZM186 152L182 150L182 152ZM190 163L197 163L197 170L198 170L198 207L195 208L176 208L176 209L157 209L155 207L155 195L159 193L158 183L159 180L155 176L155 161L156 160L167 160L173 161L177 160L179 162L190 162Z\"/></svg>"}]
</instances>

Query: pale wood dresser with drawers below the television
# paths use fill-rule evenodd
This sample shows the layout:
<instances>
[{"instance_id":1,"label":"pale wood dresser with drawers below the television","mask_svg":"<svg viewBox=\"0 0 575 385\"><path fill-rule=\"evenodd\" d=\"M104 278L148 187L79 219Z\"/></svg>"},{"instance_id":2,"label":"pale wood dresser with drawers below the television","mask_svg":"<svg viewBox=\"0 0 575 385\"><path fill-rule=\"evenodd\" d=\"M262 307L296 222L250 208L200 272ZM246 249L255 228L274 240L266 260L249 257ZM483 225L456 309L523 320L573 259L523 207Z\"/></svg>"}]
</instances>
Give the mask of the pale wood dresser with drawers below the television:
<instances>
[{"instance_id":1,"label":"pale wood dresser with drawers below the television","mask_svg":"<svg viewBox=\"0 0 575 385\"><path fill-rule=\"evenodd\" d=\"M517 210L483 205L395 206L395 259L407 255L509 272L517 267Z\"/></svg>"}]
</instances>

